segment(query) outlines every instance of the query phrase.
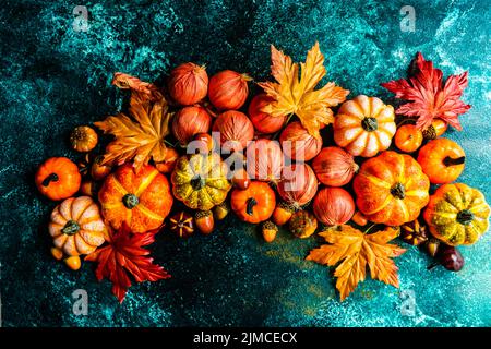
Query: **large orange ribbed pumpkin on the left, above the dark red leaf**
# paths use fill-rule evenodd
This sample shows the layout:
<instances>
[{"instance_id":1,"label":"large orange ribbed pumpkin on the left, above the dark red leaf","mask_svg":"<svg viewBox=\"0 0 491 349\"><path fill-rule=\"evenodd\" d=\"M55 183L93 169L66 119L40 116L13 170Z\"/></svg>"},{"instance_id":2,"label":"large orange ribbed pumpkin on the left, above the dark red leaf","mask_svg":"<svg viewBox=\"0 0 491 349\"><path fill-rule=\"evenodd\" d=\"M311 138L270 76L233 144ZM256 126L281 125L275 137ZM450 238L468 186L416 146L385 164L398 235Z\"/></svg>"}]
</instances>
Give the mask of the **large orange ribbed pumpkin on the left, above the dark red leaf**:
<instances>
[{"instance_id":1,"label":"large orange ribbed pumpkin on the left, above the dark red leaf","mask_svg":"<svg viewBox=\"0 0 491 349\"><path fill-rule=\"evenodd\" d=\"M107 221L115 229L125 222L135 233L159 228L173 202L167 178L149 165L137 173L131 164L119 167L98 196Z\"/></svg>"}]
</instances>

